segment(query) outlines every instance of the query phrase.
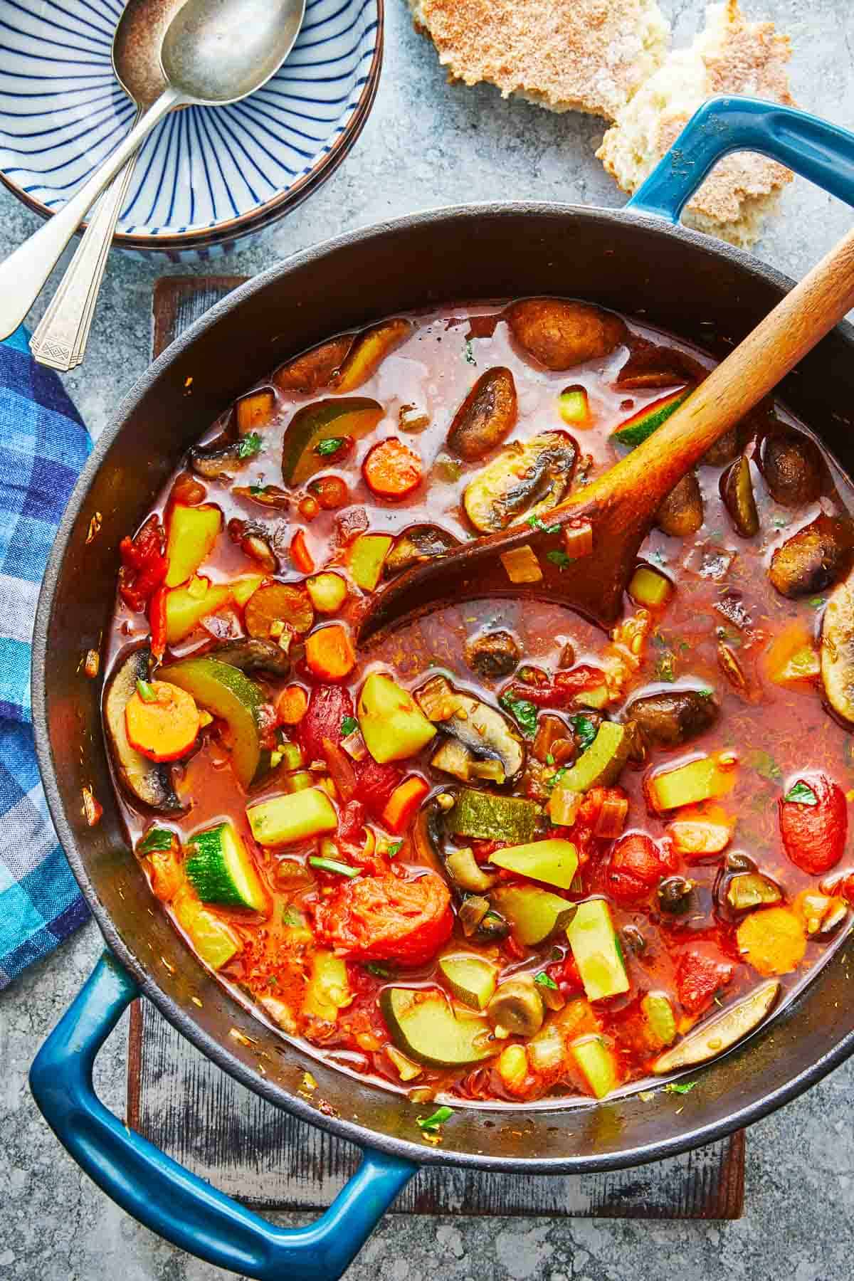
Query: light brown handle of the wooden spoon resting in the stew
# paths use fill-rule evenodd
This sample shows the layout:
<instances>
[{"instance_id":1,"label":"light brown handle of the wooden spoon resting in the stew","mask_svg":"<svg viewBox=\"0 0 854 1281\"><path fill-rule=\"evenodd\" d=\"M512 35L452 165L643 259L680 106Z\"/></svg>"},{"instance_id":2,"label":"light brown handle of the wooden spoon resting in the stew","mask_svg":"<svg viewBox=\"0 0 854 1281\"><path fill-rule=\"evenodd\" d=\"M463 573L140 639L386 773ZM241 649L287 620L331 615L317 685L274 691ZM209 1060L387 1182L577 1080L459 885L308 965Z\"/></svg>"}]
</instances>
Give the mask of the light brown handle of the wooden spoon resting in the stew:
<instances>
[{"instance_id":1,"label":"light brown handle of the wooden spoon resting in the stew","mask_svg":"<svg viewBox=\"0 0 854 1281\"><path fill-rule=\"evenodd\" d=\"M817 263L649 439L574 497L586 505L593 498L608 498L617 489L647 492L657 507L689 468L758 405L851 307L854 231Z\"/></svg>"}]
</instances>

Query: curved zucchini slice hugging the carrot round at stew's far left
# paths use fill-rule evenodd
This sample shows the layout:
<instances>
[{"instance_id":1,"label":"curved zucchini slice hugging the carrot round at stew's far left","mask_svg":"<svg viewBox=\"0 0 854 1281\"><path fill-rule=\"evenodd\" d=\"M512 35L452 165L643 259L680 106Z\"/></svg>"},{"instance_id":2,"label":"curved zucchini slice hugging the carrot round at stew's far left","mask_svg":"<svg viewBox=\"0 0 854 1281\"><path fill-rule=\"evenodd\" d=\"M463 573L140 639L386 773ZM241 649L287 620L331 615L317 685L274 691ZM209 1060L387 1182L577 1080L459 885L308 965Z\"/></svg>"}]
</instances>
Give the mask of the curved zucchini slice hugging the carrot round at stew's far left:
<instances>
[{"instance_id":1,"label":"curved zucchini slice hugging the carrot round at stew's far left","mask_svg":"<svg viewBox=\"0 0 854 1281\"><path fill-rule=\"evenodd\" d=\"M216 658L183 658L161 667L157 675L186 689L200 707L225 721L232 735L232 770L241 787L248 788L261 760L264 696L255 681Z\"/></svg>"}]
</instances>

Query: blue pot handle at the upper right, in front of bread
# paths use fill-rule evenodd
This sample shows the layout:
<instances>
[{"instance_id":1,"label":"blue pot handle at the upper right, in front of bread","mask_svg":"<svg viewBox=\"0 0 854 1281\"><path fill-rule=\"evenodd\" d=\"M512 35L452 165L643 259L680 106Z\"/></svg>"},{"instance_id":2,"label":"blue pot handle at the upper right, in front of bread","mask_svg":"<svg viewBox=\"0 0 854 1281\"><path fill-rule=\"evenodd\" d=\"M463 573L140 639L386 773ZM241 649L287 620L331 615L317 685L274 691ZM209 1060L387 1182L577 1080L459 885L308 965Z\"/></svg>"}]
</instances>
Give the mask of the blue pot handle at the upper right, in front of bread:
<instances>
[{"instance_id":1,"label":"blue pot handle at the upper right, in front of bread","mask_svg":"<svg viewBox=\"0 0 854 1281\"><path fill-rule=\"evenodd\" d=\"M712 165L730 151L761 151L854 205L854 135L791 106L711 97L626 208L677 223Z\"/></svg>"}]
</instances>

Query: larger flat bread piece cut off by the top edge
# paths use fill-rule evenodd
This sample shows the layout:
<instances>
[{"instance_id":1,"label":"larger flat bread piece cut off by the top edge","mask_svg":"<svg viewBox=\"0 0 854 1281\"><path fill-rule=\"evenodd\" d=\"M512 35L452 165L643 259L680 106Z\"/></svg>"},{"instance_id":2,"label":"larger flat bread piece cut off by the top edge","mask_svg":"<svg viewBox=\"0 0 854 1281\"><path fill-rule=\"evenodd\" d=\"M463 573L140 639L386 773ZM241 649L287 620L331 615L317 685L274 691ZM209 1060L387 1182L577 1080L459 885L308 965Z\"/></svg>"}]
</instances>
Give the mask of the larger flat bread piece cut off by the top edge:
<instances>
[{"instance_id":1,"label":"larger flat bread piece cut off by the top edge","mask_svg":"<svg viewBox=\"0 0 854 1281\"><path fill-rule=\"evenodd\" d=\"M665 59L656 0L410 0L452 79L615 119Z\"/></svg>"}]
</instances>

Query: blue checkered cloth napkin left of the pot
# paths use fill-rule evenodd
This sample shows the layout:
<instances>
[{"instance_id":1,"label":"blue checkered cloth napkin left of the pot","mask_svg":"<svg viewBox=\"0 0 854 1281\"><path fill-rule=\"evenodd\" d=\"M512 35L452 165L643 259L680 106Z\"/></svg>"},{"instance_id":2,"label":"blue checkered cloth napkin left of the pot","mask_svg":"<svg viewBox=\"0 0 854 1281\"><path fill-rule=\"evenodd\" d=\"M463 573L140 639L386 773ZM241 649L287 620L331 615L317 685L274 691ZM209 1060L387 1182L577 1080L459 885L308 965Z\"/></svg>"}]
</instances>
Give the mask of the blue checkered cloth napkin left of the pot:
<instances>
[{"instance_id":1,"label":"blue checkered cloth napkin left of the pot","mask_svg":"<svg viewBox=\"0 0 854 1281\"><path fill-rule=\"evenodd\" d=\"M47 815L29 706L38 588L88 451L61 383L19 329L0 343L0 988L88 915Z\"/></svg>"}]
</instances>

